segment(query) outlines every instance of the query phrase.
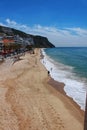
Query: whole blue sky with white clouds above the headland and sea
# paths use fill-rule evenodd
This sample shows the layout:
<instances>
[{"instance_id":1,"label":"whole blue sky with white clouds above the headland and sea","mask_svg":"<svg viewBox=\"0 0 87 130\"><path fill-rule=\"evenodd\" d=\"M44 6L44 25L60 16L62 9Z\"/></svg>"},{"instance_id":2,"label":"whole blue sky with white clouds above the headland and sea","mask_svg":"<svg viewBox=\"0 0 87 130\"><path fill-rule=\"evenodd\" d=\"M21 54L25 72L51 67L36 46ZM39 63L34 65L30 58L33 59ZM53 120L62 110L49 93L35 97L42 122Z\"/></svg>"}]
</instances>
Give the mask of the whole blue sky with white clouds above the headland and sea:
<instances>
[{"instance_id":1,"label":"whole blue sky with white clouds above the headland and sea","mask_svg":"<svg viewBox=\"0 0 87 130\"><path fill-rule=\"evenodd\" d=\"M56 47L87 47L87 0L1 0L0 25L47 37Z\"/></svg>"}]
</instances>

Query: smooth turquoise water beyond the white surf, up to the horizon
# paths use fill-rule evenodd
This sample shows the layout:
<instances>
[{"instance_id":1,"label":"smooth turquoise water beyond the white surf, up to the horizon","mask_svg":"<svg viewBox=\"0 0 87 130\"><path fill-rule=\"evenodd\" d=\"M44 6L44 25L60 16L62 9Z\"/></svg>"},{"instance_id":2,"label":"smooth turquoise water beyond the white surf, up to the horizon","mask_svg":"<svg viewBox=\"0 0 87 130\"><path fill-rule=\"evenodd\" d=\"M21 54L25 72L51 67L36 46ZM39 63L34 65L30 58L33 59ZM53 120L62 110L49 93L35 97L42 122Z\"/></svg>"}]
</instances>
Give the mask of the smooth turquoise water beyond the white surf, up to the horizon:
<instances>
[{"instance_id":1,"label":"smooth turquoise water beyond the white surf, up to the horizon","mask_svg":"<svg viewBox=\"0 0 87 130\"><path fill-rule=\"evenodd\" d=\"M45 52L55 61L72 66L78 76L87 78L87 48L52 48L45 49Z\"/></svg>"}]
</instances>

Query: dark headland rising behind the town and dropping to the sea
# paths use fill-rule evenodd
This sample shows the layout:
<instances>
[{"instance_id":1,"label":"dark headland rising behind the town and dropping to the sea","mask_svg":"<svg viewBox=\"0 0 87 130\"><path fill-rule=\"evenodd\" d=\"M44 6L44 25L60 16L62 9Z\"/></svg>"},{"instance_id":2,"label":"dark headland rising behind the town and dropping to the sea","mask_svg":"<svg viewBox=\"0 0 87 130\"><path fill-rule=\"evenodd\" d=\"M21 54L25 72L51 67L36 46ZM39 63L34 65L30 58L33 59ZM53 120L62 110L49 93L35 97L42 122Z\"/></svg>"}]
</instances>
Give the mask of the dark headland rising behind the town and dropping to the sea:
<instances>
[{"instance_id":1,"label":"dark headland rising behind the town and dropping to the sea","mask_svg":"<svg viewBox=\"0 0 87 130\"><path fill-rule=\"evenodd\" d=\"M24 40L29 40L32 39L31 41L34 47L37 48L52 48L55 47L52 43L50 43L48 41L48 39L46 37L43 36L35 36L35 35L31 35L31 34L27 34L25 32L22 32L20 30L16 30L13 28L9 28L9 27L4 27L4 26L0 26L0 36L19 36L20 38ZM30 40L29 40L30 42ZM25 44L25 43L24 43Z\"/></svg>"}]
</instances>

